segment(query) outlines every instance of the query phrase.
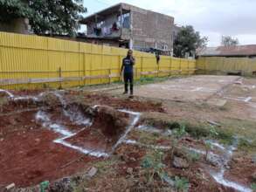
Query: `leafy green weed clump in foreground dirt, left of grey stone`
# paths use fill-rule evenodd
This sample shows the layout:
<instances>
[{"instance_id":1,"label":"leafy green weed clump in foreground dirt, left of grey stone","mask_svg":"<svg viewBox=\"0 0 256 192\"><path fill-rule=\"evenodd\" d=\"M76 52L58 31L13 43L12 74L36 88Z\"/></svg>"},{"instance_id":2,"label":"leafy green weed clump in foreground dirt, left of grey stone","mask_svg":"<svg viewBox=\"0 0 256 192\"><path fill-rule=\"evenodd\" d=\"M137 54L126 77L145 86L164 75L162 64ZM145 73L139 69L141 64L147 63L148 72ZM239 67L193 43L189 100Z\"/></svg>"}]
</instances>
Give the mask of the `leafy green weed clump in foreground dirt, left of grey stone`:
<instances>
[{"instance_id":1,"label":"leafy green weed clump in foreground dirt, left of grey stone","mask_svg":"<svg viewBox=\"0 0 256 192\"><path fill-rule=\"evenodd\" d=\"M142 160L142 168L146 169L148 182L152 182L155 175L158 175L163 182L165 175L163 168L163 152L155 150L153 154L146 155Z\"/></svg>"}]
</instances>

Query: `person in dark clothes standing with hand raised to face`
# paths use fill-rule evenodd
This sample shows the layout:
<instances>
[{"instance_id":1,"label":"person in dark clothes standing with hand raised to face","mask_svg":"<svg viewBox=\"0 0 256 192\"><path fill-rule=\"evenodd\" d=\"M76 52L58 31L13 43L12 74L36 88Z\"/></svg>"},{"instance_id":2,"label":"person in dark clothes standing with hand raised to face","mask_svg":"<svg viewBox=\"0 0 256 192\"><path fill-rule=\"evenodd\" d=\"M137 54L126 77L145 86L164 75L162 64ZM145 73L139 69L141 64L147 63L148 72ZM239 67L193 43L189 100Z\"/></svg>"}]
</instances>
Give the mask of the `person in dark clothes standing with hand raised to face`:
<instances>
[{"instance_id":1,"label":"person in dark clothes standing with hand raised to face","mask_svg":"<svg viewBox=\"0 0 256 192\"><path fill-rule=\"evenodd\" d=\"M122 59L121 72L123 70L124 94L128 93L128 82L130 84L130 95L134 94L134 65L133 51L129 50L127 57Z\"/></svg>"}]
</instances>

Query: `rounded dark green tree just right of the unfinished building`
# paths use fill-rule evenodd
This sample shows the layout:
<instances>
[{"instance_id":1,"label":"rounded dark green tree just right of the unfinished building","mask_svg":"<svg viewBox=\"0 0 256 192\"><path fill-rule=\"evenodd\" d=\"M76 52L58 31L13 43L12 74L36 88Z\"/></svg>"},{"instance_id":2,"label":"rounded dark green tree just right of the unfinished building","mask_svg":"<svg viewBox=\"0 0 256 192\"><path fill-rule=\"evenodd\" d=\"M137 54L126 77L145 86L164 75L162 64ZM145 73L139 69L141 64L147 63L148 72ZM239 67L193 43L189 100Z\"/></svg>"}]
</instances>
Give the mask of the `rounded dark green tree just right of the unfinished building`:
<instances>
[{"instance_id":1,"label":"rounded dark green tree just right of the unfinished building","mask_svg":"<svg viewBox=\"0 0 256 192\"><path fill-rule=\"evenodd\" d=\"M186 53L192 55L197 48L206 46L207 42L208 38L201 38L193 26L183 26L174 40L174 55L178 58L184 58Z\"/></svg>"}]
</instances>

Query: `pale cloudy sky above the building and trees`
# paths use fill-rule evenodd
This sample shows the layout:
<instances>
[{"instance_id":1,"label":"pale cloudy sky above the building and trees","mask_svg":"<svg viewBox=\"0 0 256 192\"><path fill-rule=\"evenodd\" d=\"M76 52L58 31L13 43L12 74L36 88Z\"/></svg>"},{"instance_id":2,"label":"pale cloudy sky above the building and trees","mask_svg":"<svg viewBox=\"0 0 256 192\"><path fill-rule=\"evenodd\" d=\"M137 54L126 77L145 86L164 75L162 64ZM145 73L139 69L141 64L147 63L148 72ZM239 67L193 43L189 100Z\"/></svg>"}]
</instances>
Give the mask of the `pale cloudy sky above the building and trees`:
<instances>
[{"instance_id":1,"label":"pale cloudy sky above the building and trees","mask_svg":"<svg viewBox=\"0 0 256 192\"><path fill-rule=\"evenodd\" d=\"M256 0L85 0L86 15L121 2L175 17L178 25L191 24L210 46L219 45L222 35L239 38L240 45L256 44Z\"/></svg>"}]
</instances>

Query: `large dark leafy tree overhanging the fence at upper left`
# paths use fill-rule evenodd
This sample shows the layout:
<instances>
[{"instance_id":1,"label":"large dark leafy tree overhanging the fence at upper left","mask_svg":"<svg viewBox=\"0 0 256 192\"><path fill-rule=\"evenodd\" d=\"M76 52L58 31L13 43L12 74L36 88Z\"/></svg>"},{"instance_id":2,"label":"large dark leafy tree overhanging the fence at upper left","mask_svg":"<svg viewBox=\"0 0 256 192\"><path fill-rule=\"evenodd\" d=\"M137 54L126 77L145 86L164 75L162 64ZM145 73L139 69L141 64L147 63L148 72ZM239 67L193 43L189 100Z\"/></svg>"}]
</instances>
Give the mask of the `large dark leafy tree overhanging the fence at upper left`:
<instances>
[{"instance_id":1,"label":"large dark leafy tree overhanging the fence at upper left","mask_svg":"<svg viewBox=\"0 0 256 192\"><path fill-rule=\"evenodd\" d=\"M82 0L0 0L0 21L27 17L36 34L70 34L79 28Z\"/></svg>"}]
</instances>

